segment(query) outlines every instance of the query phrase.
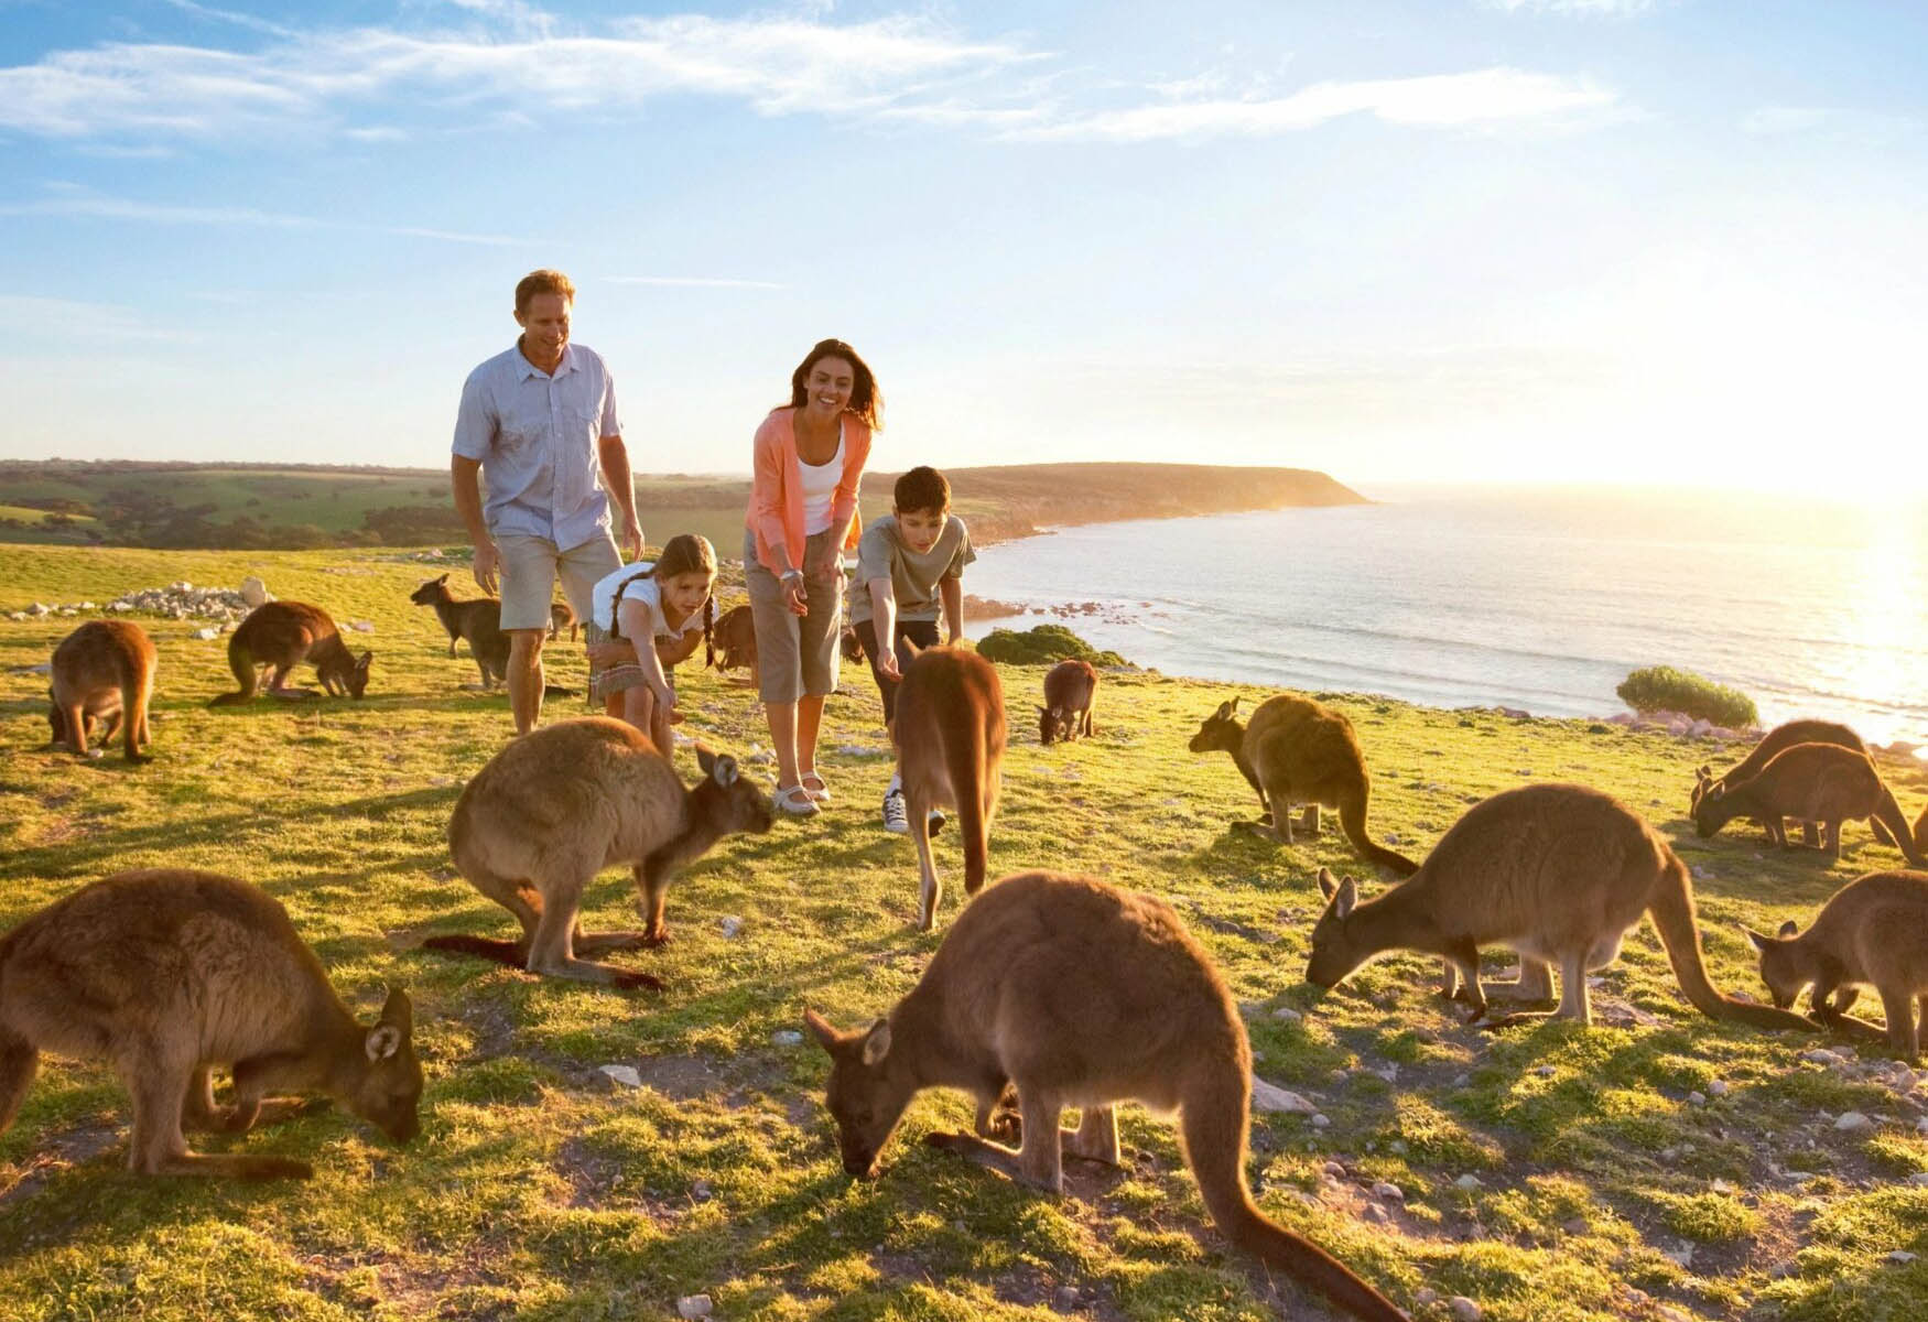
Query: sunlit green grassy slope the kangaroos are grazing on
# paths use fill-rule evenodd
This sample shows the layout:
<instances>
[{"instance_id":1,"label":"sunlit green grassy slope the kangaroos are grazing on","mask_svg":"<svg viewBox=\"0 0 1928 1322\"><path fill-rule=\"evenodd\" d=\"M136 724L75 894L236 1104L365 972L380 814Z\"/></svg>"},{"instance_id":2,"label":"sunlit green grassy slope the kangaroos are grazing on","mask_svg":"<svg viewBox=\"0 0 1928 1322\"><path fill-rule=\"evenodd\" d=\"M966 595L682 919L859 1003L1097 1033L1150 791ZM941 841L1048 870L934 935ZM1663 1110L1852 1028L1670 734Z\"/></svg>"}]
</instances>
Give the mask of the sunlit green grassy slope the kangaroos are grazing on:
<instances>
[{"instance_id":1,"label":"sunlit green grassy slope the kangaroos are grazing on","mask_svg":"<svg viewBox=\"0 0 1928 1322\"><path fill-rule=\"evenodd\" d=\"M204 1150L308 1158L310 1185L135 1179L121 1168L120 1085L48 1058L0 1135L0 1316L659 1318L698 1291L719 1318L1328 1316L1226 1249L1172 1127L1138 1108L1120 1112L1126 1166L1070 1162L1066 1199L924 1147L924 1133L970 1124L949 1093L912 1108L877 1181L843 1176L825 1058L777 1035L800 1027L804 1006L846 1025L883 1012L958 912L956 842L941 836L952 888L939 931L914 931L912 850L875 823L889 759L868 676L846 671L827 709L833 811L725 842L673 888L673 944L619 956L665 977L665 992L544 983L416 950L430 933L513 927L447 863L449 809L509 715L501 696L461 688L474 680L467 655L447 659L434 619L407 603L426 565L395 551L0 547L0 609L249 572L374 622L366 701L208 709L228 688L222 642L195 640L191 621L150 621L158 761L81 763L44 750L44 676L23 673L75 621L0 619L0 927L125 867L249 877L289 908L359 1014L376 1012L388 983L409 985L428 1071L422 1135L397 1149L318 1110L243 1139L195 1137ZM551 676L578 684L580 671L565 648ZM750 694L684 671L684 728L748 754L763 738ZM1010 709L1030 711L1041 669L1003 676ZM1247 1008L1259 1073L1330 1120L1255 1120L1249 1172L1269 1214L1415 1318L1450 1316L1452 1295L1494 1322L1920 1316L1916 1093L1876 1075L1874 1052L1820 1066L1803 1060L1830 1044L1820 1035L1700 1018L1648 927L1604 971L1593 1031L1465 1029L1431 992L1434 964L1415 956L1332 994L1303 985L1313 875L1359 867L1330 834L1278 850L1226 829L1251 815L1251 792L1230 759L1195 757L1186 738L1234 692L1261 696L1105 674L1097 738L1049 750L1018 719L991 856L993 873L1091 871L1180 910ZM1683 819L1691 769L1737 757L1718 746L1332 701L1371 757L1375 829L1413 854L1513 784L1579 779L1620 794L1693 865L1712 973L1731 991L1760 994L1739 923L1805 921L1849 877L1901 863L1861 825L1837 867L1770 852L1739 827L1697 840ZM694 775L686 750L679 765ZM1928 777L1884 765L1915 811ZM586 927L632 917L627 871L605 873ZM740 919L735 937L725 917ZM1866 998L1862 1010L1878 1016ZM634 1066L646 1085L611 1085L605 1064ZM1847 1110L1874 1127L1835 1129ZM1375 1193L1379 1181L1404 1197ZM1924 1256L1891 1262L1893 1251Z\"/></svg>"}]
</instances>

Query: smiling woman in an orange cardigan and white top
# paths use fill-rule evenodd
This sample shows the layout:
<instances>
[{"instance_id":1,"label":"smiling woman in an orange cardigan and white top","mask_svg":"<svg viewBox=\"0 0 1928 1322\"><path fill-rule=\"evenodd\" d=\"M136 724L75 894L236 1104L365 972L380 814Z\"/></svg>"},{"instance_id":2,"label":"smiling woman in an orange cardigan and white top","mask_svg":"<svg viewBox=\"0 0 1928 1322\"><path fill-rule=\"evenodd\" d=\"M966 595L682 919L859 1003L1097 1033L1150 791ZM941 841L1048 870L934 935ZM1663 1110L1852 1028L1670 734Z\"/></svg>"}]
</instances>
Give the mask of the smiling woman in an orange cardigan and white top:
<instances>
[{"instance_id":1,"label":"smiling woman in an orange cardigan and white top","mask_svg":"<svg viewBox=\"0 0 1928 1322\"><path fill-rule=\"evenodd\" d=\"M883 395L856 349L821 339L790 372L790 403L756 430L742 570L756 622L758 698L777 750L777 807L810 817L831 798L817 725L837 688L843 553Z\"/></svg>"}]
</instances>

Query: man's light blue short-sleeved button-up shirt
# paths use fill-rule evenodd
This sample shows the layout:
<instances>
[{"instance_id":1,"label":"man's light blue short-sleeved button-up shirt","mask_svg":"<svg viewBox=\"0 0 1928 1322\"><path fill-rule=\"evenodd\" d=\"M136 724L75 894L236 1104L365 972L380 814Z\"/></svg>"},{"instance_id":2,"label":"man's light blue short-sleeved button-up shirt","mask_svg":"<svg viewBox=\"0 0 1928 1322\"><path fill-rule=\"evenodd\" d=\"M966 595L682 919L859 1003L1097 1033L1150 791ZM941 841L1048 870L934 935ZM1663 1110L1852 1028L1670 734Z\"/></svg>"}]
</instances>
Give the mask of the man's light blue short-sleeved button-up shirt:
<instances>
[{"instance_id":1,"label":"man's light blue short-sleeved button-up shirt","mask_svg":"<svg viewBox=\"0 0 1928 1322\"><path fill-rule=\"evenodd\" d=\"M469 374L455 414L455 453L482 461L490 536L557 551L609 534L598 441L621 434L609 368L582 345L563 345L553 376L521 345L497 353Z\"/></svg>"}]
</instances>

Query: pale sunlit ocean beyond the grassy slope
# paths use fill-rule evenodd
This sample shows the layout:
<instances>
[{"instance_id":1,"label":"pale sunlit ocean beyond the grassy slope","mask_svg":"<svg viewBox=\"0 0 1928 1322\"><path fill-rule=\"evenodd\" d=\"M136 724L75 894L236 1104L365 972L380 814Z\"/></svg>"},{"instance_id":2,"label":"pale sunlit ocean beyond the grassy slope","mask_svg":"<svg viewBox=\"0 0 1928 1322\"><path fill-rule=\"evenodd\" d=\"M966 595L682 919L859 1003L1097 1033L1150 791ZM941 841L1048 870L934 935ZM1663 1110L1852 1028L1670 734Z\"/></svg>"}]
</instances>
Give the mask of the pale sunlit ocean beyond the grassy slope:
<instances>
[{"instance_id":1,"label":"pale sunlit ocean beyond the grassy slope","mask_svg":"<svg viewBox=\"0 0 1928 1322\"><path fill-rule=\"evenodd\" d=\"M1629 671L1749 694L1764 725L1928 744L1928 507L1598 489L1373 489L1377 503L1058 528L966 592L1170 674L1533 715L1625 711Z\"/></svg>"}]
</instances>

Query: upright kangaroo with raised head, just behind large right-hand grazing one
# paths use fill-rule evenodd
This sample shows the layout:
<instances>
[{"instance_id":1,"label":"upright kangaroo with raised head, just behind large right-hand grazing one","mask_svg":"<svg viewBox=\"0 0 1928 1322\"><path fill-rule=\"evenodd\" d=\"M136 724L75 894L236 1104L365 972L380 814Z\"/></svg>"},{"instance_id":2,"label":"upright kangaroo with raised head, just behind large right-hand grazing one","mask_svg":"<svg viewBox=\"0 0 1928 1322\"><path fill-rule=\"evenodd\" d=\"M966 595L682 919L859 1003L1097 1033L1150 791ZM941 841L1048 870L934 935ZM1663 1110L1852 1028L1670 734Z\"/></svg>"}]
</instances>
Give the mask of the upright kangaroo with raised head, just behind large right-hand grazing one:
<instances>
[{"instance_id":1,"label":"upright kangaroo with raised head, just behind large right-hand grazing one","mask_svg":"<svg viewBox=\"0 0 1928 1322\"><path fill-rule=\"evenodd\" d=\"M1352 848L1394 877L1409 877L1419 867L1396 850L1377 844L1365 833L1365 809L1373 798L1373 777L1365 769L1365 750L1342 711L1309 698L1280 694L1267 698L1251 713L1251 725L1238 723L1238 698L1218 703L1199 732L1192 752L1226 752L1240 775L1259 792L1271 821L1253 831L1280 844L1292 844L1292 804L1305 804L1305 825L1319 833L1319 807L1336 807L1338 825Z\"/></svg>"}]
</instances>

